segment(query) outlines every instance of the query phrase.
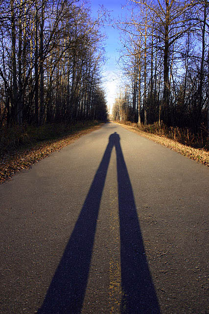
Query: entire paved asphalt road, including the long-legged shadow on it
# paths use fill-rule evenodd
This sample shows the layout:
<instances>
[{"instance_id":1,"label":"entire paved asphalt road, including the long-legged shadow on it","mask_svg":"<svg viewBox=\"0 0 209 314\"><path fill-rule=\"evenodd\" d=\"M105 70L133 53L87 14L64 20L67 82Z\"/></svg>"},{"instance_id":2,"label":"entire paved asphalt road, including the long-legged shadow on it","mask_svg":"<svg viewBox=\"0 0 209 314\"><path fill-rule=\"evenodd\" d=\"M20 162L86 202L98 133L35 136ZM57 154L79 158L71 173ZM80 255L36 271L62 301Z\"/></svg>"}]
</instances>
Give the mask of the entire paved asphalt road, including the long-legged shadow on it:
<instances>
[{"instance_id":1,"label":"entire paved asphalt road, including the long-legged shadow on it","mask_svg":"<svg viewBox=\"0 0 209 314\"><path fill-rule=\"evenodd\" d=\"M207 314L209 168L113 123L0 185L0 313Z\"/></svg>"}]
</instances>

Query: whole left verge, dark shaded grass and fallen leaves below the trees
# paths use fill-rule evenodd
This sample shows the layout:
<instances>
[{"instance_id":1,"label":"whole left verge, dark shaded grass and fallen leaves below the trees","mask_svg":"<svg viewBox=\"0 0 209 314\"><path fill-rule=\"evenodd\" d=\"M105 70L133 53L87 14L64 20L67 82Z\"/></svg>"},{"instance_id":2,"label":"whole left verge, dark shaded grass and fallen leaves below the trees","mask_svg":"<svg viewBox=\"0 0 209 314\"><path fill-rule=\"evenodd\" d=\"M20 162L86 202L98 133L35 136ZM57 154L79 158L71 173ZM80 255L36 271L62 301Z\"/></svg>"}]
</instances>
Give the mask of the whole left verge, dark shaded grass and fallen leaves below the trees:
<instances>
[{"instance_id":1,"label":"whole left verge, dark shaded grass and fallen leaves below the trees","mask_svg":"<svg viewBox=\"0 0 209 314\"><path fill-rule=\"evenodd\" d=\"M98 121L75 125L13 127L0 131L0 183L22 169L71 144L80 136L100 128Z\"/></svg>"}]
</instances>

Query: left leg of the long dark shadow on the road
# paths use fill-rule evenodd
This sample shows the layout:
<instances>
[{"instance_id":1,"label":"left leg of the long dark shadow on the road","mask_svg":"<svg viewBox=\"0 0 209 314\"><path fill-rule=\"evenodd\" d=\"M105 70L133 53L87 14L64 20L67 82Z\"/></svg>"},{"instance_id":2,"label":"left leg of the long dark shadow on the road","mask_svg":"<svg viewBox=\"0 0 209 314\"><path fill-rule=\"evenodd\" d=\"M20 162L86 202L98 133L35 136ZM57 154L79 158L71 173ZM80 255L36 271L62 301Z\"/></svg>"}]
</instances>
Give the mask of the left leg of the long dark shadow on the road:
<instances>
[{"instance_id":1,"label":"left leg of the long dark shadow on the road","mask_svg":"<svg viewBox=\"0 0 209 314\"><path fill-rule=\"evenodd\" d=\"M96 221L110 162L108 144L39 314L79 314L88 282Z\"/></svg>"}]
</instances>

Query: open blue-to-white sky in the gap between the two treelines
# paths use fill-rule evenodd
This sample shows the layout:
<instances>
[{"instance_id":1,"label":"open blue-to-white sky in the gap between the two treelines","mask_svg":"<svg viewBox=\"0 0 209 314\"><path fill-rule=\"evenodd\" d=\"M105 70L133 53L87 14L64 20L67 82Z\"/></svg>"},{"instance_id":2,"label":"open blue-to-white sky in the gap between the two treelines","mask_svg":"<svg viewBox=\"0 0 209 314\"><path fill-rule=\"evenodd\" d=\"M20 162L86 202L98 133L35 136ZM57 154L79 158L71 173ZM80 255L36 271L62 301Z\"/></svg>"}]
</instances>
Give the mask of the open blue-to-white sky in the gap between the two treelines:
<instances>
[{"instance_id":1,"label":"open blue-to-white sky in the gap between the two treelines","mask_svg":"<svg viewBox=\"0 0 209 314\"><path fill-rule=\"evenodd\" d=\"M118 17L124 16L126 13L126 7L122 9L122 6L126 4L126 0L91 0L92 15L97 16L99 5L111 11L110 15L112 18L118 19ZM118 50L120 49L119 42L119 31L117 28L112 26L102 27L102 32L105 32L107 39L105 42L105 51L107 62L103 67L103 86L106 91L106 98L108 106L113 105L114 100L117 96L118 85L120 81L121 71L117 65L117 59L119 57Z\"/></svg>"}]
</instances>

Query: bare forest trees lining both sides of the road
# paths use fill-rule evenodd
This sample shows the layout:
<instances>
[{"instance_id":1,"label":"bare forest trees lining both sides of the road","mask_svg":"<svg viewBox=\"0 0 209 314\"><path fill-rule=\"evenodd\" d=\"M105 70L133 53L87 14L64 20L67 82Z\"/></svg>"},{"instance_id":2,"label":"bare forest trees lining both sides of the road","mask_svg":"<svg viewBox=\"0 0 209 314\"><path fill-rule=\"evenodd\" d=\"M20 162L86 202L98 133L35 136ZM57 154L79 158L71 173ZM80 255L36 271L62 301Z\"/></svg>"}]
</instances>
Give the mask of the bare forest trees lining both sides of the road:
<instances>
[{"instance_id":1,"label":"bare forest trees lining both sides of the road","mask_svg":"<svg viewBox=\"0 0 209 314\"><path fill-rule=\"evenodd\" d=\"M93 18L88 1L0 1L1 138L14 127L107 121L106 21L118 28L123 47L113 120L209 147L208 1L126 6L125 18L108 21L105 9Z\"/></svg>"}]
</instances>

